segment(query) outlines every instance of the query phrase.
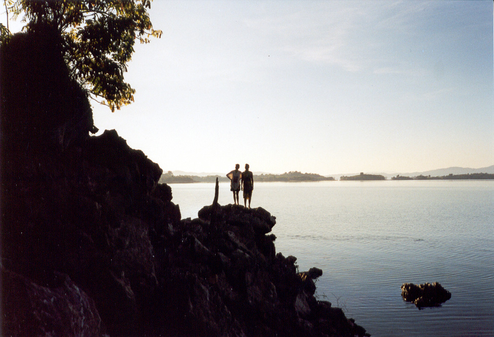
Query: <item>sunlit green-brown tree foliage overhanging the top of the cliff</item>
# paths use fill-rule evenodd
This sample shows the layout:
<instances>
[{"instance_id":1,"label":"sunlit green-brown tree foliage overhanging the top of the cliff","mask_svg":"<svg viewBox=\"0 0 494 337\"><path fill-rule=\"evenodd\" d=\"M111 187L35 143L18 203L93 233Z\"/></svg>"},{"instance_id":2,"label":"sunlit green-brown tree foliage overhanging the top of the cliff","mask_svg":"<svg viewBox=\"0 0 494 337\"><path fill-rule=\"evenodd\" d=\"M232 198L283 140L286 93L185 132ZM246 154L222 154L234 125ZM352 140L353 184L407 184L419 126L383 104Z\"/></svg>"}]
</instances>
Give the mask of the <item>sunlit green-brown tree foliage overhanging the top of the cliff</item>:
<instances>
[{"instance_id":1,"label":"sunlit green-brown tree foliage overhanging the top of the cliff","mask_svg":"<svg viewBox=\"0 0 494 337\"><path fill-rule=\"evenodd\" d=\"M70 75L93 99L112 111L133 102L135 90L124 73L134 43L162 33L151 24L150 0L4 1L14 19L24 14L25 30L48 26L61 36Z\"/></svg>"}]
</instances>

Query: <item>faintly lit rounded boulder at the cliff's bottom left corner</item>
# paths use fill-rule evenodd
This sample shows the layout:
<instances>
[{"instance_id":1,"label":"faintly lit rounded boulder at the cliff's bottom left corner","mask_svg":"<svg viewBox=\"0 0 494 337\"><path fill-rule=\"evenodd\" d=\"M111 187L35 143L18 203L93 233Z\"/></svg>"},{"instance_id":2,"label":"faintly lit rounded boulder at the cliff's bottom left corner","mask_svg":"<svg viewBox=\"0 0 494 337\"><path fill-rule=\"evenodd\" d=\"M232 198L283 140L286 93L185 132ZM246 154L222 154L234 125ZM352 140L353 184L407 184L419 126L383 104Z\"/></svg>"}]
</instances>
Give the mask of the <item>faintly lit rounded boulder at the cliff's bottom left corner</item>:
<instances>
[{"instance_id":1,"label":"faintly lit rounded boulder at the cliff's bottom left corner","mask_svg":"<svg viewBox=\"0 0 494 337\"><path fill-rule=\"evenodd\" d=\"M94 302L67 275L56 274L50 286L2 269L2 335L102 336Z\"/></svg>"}]
</instances>

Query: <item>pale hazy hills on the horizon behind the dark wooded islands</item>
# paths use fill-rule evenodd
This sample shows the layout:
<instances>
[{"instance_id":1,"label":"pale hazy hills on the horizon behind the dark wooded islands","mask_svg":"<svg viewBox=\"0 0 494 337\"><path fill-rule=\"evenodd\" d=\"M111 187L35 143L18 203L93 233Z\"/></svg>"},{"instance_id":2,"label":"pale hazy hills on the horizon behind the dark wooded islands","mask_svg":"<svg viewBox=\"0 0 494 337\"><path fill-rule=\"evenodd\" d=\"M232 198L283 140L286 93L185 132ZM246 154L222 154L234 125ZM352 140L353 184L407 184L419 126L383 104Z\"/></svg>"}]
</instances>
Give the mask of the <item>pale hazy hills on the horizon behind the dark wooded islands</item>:
<instances>
[{"instance_id":1,"label":"pale hazy hills on the horizon behind the dark wooded islands","mask_svg":"<svg viewBox=\"0 0 494 337\"><path fill-rule=\"evenodd\" d=\"M288 171L287 171L288 172ZM227 172L225 173L218 173L218 172L185 172L185 171L172 171L174 176L198 176L198 177L206 177L206 176L226 176ZM254 175L261 175L261 174L269 174L266 172L253 172ZM311 172L314 173L314 172ZM366 174L373 174L373 175L382 175L386 177L386 179L391 179L392 177L396 177L397 175L400 176L405 176L405 177L416 177L416 176L431 176L431 177L442 177L442 176L447 176L449 174L453 175L465 175L465 174L472 174L472 173L489 173L489 174L494 174L494 165L487 166L487 167L481 167L481 168L470 168L470 167L458 167L458 166L453 166L453 167L448 167L448 168L438 168L437 170L431 170L431 171L424 171L424 172L396 172L396 173L382 173L382 172L364 172ZM333 177L336 180L339 180L341 176L355 176L360 174L360 172L354 172L354 173L341 173L341 174L334 174L334 175L327 175L325 177Z\"/></svg>"}]
</instances>

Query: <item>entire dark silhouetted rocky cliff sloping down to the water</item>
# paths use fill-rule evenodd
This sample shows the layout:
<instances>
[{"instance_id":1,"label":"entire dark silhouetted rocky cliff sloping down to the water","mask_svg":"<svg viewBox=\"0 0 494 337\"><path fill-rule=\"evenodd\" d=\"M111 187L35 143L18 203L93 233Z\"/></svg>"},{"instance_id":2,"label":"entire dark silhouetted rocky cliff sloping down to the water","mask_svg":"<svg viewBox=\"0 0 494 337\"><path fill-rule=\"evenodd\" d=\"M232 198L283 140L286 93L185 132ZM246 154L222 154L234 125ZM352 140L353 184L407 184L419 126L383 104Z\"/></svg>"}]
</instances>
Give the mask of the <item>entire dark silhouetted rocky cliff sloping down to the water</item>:
<instances>
[{"instance_id":1,"label":"entire dark silhouetted rocky cliff sloping down to the water","mask_svg":"<svg viewBox=\"0 0 494 337\"><path fill-rule=\"evenodd\" d=\"M161 168L94 132L50 32L0 50L4 336L362 336L276 254L262 208L181 219ZM211 194L211 198L213 194Z\"/></svg>"}]
</instances>

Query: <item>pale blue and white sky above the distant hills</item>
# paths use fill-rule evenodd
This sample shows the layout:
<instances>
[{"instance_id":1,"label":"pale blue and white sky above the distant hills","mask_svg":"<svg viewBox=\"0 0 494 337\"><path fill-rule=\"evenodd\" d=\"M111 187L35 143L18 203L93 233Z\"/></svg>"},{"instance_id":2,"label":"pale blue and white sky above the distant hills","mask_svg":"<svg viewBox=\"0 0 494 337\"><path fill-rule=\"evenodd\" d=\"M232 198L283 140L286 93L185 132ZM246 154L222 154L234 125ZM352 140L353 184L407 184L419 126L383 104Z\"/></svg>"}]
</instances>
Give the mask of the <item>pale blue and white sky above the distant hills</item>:
<instances>
[{"instance_id":1,"label":"pale blue and white sky above the distant hills","mask_svg":"<svg viewBox=\"0 0 494 337\"><path fill-rule=\"evenodd\" d=\"M98 134L164 172L494 164L491 0L155 0L149 14L163 34L135 46L134 103L92 105Z\"/></svg>"}]
</instances>

